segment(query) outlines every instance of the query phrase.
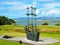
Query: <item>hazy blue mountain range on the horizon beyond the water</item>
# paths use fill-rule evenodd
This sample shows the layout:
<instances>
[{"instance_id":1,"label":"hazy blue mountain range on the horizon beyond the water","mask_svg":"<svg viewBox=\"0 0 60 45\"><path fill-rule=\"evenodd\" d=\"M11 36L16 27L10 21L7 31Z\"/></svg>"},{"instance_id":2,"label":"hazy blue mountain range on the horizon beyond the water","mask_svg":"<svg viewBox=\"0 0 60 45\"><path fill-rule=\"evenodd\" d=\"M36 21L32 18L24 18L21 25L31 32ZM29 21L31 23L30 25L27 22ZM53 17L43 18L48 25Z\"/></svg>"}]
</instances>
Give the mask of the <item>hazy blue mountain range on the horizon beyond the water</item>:
<instances>
[{"instance_id":1,"label":"hazy blue mountain range on the horizon beyond the water","mask_svg":"<svg viewBox=\"0 0 60 45\"><path fill-rule=\"evenodd\" d=\"M32 20L32 18L29 18ZM60 17L38 17L37 20L50 20L50 21L60 21ZM27 20L27 17L14 18L14 20Z\"/></svg>"}]
</instances>

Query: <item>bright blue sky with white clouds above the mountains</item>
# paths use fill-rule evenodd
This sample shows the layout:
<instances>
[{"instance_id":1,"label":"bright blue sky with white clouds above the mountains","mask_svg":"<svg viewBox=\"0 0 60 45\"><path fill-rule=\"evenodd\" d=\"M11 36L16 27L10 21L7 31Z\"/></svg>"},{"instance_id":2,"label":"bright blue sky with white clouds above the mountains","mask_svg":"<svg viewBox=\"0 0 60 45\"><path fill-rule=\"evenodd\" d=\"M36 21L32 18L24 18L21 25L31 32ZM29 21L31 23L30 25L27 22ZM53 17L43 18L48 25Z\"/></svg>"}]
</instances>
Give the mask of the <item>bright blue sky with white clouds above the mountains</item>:
<instances>
[{"instance_id":1,"label":"bright blue sky with white clouds above the mountains","mask_svg":"<svg viewBox=\"0 0 60 45\"><path fill-rule=\"evenodd\" d=\"M60 17L60 0L0 0L0 16L26 17L31 5L37 8L37 17Z\"/></svg>"}]
</instances>

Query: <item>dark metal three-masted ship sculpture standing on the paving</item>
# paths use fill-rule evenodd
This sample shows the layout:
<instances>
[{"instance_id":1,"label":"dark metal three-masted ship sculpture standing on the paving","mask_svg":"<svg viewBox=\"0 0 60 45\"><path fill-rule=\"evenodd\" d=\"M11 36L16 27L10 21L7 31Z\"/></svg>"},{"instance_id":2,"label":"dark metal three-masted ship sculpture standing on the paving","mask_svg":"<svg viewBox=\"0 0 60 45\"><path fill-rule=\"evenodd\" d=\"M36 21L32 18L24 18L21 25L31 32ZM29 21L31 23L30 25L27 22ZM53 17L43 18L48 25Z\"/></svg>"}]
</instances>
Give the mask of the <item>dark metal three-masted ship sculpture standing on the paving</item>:
<instances>
[{"instance_id":1,"label":"dark metal three-masted ship sculpture standing on the paving","mask_svg":"<svg viewBox=\"0 0 60 45\"><path fill-rule=\"evenodd\" d=\"M28 40L32 41L39 41L39 29L36 26L36 8L34 7L27 7L27 17L28 17L28 24L25 26L25 32ZM29 21L29 16L32 17L32 23Z\"/></svg>"}]
</instances>

